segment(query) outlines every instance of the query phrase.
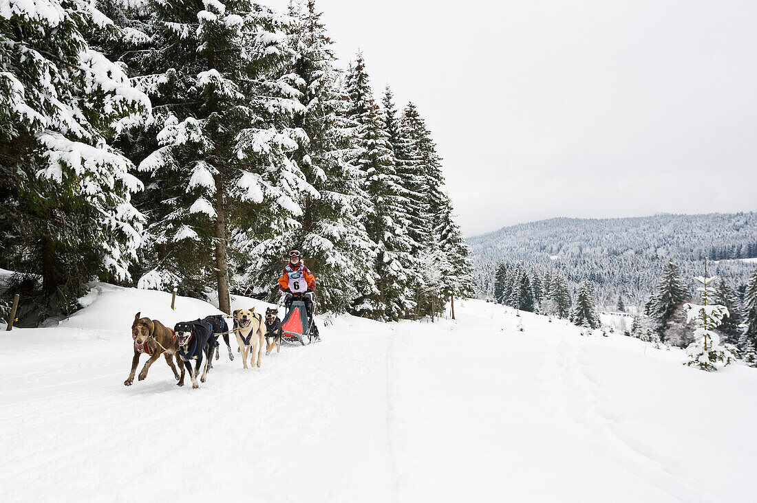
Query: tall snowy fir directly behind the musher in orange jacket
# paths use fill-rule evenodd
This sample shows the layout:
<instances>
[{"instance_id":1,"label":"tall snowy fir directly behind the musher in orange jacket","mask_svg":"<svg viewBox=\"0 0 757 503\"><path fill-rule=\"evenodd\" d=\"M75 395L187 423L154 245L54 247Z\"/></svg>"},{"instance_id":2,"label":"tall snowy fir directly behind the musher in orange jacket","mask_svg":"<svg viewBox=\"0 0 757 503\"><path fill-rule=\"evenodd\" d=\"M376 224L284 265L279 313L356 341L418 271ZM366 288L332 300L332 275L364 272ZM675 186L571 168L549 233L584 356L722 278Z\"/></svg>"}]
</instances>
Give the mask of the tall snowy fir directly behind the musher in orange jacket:
<instances>
[{"instance_id":1,"label":"tall snowy fir directly behind the musher in orange jacket","mask_svg":"<svg viewBox=\"0 0 757 503\"><path fill-rule=\"evenodd\" d=\"M378 281L365 268L375 257L357 215L367 195L360 188L357 166L350 163L356 124L346 117L347 96L341 92L332 41L315 2L291 5L290 16L294 21L288 26L289 41L296 56L288 79L304 106L293 113L290 127L302 130L305 138L289 159L317 194L305 192L300 201L303 211L293 217L296 223L282 222L279 232L257 244L257 259L245 272L249 281L243 282L256 285L254 293L275 301L286 252L298 249L316 275L319 309L346 312L366 284L372 290Z\"/></svg>"}]
</instances>

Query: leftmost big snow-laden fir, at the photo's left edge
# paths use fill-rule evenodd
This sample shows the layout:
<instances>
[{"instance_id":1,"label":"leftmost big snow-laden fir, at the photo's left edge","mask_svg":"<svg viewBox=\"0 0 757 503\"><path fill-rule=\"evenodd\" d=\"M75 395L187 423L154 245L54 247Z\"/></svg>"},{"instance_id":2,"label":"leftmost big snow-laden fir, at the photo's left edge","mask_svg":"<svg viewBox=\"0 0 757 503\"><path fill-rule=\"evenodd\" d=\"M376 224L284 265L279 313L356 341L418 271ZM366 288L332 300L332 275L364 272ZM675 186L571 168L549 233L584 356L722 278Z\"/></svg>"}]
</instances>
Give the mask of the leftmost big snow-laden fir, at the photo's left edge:
<instances>
[{"instance_id":1,"label":"leftmost big snow-laden fir, at the photo's left edge","mask_svg":"<svg viewBox=\"0 0 757 503\"><path fill-rule=\"evenodd\" d=\"M30 322L76 307L92 279L129 279L142 184L114 136L151 104L88 41L120 36L88 2L0 7L0 266L35 275Z\"/></svg>"}]
</instances>

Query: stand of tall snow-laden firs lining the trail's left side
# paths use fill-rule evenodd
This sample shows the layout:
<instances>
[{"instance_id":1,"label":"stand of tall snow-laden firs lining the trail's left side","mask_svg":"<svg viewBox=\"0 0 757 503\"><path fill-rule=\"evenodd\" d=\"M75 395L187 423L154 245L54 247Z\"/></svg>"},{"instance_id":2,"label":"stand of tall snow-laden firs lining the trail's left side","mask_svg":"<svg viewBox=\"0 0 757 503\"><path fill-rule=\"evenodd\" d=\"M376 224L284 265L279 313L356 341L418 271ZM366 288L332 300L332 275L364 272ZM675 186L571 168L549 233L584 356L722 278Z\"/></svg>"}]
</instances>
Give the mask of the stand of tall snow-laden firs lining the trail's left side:
<instances>
[{"instance_id":1,"label":"stand of tall snow-laden firs lining the trail's left side","mask_svg":"<svg viewBox=\"0 0 757 503\"><path fill-rule=\"evenodd\" d=\"M361 54L340 69L316 2L46 5L0 13L21 324L78 309L92 280L276 302L291 249L322 311L434 318L474 293L428 126L375 98Z\"/></svg>"}]
</instances>

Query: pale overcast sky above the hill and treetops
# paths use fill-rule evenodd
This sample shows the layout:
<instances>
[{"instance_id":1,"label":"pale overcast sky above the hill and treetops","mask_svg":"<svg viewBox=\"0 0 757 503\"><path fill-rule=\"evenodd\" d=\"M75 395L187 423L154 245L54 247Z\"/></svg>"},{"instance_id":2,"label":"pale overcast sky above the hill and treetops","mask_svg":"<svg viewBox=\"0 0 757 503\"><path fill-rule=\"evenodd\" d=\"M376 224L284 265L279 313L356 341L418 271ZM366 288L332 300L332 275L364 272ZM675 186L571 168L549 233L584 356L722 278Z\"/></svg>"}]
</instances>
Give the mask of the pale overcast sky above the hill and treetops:
<instances>
[{"instance_id":1,"label":"pale overcast sky above the hill and treetops","mask_svg":"<svg viewBox=\"0 0 757 503\"><path fill-rule=\"evenodd\" d=\"M754 0L316 5L342 67L418 105L466 235L757 210Z\"/></svg>"}]
</instances>

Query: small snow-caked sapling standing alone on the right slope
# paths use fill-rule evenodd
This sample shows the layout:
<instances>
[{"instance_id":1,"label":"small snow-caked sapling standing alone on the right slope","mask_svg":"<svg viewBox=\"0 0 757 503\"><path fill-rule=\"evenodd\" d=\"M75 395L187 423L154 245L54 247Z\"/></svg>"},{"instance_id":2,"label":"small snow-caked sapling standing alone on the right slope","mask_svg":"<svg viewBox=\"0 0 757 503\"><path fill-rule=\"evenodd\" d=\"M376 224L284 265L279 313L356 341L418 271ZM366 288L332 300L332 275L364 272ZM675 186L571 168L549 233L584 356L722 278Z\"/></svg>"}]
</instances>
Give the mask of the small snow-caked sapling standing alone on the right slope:
<instances>
[{"instance_id":1,"label":"small snow-caked sapling standing alone on the right slope","mask_svg":"<svg viewBox=\"0 0 757 503\"><path fill-rule=\"evenodd\" d=\"M702 287L697 291L702 293L702 304L686 303L684 310L687 312L687 323L696 320L696 330L694 330L694 342L691 343L686 352L690 360L684 365L696 366L704 371L717 371L731 362L734 362L736 356L726 346L721 346L720 336L715 333L715 328L723 321L724 316L730 315L727 307L719 304L707 305L707 287L715 278L707 278L707 262L705 262L705 276L694 278Z\"/></svg>"}]
</instances>

